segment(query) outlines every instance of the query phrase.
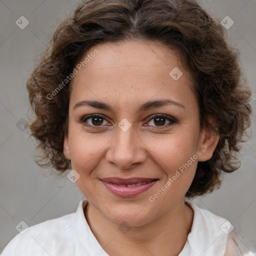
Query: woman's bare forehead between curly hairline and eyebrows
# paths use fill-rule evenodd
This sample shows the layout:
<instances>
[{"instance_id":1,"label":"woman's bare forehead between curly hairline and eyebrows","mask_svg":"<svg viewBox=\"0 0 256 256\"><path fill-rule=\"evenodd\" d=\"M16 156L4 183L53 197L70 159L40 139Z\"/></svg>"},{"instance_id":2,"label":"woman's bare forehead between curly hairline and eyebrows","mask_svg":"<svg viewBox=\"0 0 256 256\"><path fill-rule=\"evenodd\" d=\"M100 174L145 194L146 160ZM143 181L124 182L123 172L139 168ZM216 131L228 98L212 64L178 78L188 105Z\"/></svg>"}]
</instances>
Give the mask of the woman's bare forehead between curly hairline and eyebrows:
<instances>
[{"instance_id":1,"label":"woman's bare forehead between curly hairline and eyebrows","mask_svg":"<svg viewBox=\"0 0 256 256\"><path fill-rule=\"evenodd\" d=\"M139 102L141 97L148 100L169 95L178 101L191 90L190 75L178 52L159 42L101 43L91 47L81 61L85 58L72 79L71 101L93 97Z\"/></svg>"}]
</instances>

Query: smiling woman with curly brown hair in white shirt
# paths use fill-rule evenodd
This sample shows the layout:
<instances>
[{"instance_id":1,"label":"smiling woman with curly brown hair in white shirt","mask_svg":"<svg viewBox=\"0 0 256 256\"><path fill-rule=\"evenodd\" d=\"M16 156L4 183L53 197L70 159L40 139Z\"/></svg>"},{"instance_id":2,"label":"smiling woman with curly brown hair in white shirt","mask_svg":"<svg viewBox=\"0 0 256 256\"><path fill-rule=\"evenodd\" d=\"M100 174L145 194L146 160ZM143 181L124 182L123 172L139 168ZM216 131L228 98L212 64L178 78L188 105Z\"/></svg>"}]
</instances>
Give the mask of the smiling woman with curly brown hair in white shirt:
<instances>
[{"instance_id":1,"label":"smiling woman with curly brown hair in white shirt","mask_svg":"<svg viewBox=\"0 0 256 256\"><path fill-rule=\"evenodd\" d=\"M238 168L250 90L195 0L84 0L27 80L41 161L76 181L77 211L2 255L253 255L185 198Z\"/></svg>"}]
</instances>

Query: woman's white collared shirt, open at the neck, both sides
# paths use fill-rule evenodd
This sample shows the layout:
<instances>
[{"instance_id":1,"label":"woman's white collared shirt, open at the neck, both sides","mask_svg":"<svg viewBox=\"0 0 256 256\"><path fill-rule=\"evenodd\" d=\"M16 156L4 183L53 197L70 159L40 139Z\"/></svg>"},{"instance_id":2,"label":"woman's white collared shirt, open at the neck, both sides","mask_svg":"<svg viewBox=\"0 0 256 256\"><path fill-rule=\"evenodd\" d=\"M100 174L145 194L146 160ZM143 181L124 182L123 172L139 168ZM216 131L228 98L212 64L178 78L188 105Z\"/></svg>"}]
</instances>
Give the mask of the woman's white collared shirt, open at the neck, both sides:
<instances>
[{"instance_id":1,"label":"woman's white collared shirt, open at the neck, both sides","mask_svg":"<svg viewBox=\"0 0 256 256\"><path fill-rule=\"evenodd\" d=\"M230 232L230 222L192 202L186 203L193 209L193 223L178 256L255 255ZM87 223L83 212L86 204L87 200L83 199L76 212L30 226L23 234L18 233L1 256L109 256Z\"/></svg>"}]
</instances>

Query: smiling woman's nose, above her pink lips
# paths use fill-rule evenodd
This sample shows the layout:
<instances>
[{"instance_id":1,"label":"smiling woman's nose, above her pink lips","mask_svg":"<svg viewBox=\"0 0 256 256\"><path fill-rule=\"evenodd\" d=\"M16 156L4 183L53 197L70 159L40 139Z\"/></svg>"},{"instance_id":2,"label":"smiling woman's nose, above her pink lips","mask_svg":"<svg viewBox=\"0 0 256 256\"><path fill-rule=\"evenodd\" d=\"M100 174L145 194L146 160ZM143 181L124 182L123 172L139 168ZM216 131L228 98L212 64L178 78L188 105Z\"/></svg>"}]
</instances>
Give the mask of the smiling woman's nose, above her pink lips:
<instances>
[{"instance_id":1,"label":"smiling woman's nose, above her pink lips","mask_svg":"<svg viewBox=\"0 0 256 256\"><path fill-rule=\"evenodd\" d=\"M117 133L109 143L106 160L120 169L129 169L131 165L143 163L146 159L145 144L132 126L126 131L117 127Z\"/></svg>"}]
</instances>

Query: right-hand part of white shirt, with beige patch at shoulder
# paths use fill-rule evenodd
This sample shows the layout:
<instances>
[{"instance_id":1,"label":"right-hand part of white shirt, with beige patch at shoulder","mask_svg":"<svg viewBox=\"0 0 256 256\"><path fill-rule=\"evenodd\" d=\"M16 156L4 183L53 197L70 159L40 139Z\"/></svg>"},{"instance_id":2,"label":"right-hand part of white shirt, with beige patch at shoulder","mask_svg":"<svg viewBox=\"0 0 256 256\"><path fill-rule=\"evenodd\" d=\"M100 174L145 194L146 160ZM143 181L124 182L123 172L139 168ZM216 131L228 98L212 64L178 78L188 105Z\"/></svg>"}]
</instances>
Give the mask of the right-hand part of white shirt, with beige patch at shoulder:
<instances>
[{"instance_id":1,"label":"right-hand part of white shirt, with beige patch at shoulder","mask_svg":"<svg viewBox=\"0 0 256 256\"><path fill-rule=\"evenodd\" d=\"M209 210L186 202L194 217L188 234L191 256L254 256L256 242L234 232L234 226L225 218ZM246 244L246 245L245 245Z\"/></svg>"}]
</instances>

